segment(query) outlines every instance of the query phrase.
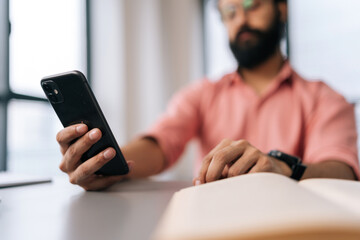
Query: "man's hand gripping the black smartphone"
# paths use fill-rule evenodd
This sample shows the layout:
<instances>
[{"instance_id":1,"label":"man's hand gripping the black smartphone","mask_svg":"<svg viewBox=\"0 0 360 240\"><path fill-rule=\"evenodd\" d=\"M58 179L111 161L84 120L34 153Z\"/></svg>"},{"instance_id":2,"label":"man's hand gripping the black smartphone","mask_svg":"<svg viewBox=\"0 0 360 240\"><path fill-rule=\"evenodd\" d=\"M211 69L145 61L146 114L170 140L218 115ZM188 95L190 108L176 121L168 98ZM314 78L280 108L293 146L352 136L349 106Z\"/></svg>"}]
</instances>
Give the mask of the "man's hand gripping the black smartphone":
<instances>
[{"instance_id":1,"label":"man's hand gripping the black smartphone","mask_svg":"<svg viewBox=\"0 0 360 240\"><path fill-rule=\"evenodd\" d=\"M101 138L99 129L88 131L85 124L72 125L61 130L56 140L63 155L61 171L69 175L70 182L85 190L100 190L124 179L124 176L99 176L95 172L115 157L115 150L107 148L84 163L81 156ZM77 140L76 140L77 139ZM75 142L73 142L76 140ZM133 162L128 162L131 168Z\"/></svg>"}]
</instances>

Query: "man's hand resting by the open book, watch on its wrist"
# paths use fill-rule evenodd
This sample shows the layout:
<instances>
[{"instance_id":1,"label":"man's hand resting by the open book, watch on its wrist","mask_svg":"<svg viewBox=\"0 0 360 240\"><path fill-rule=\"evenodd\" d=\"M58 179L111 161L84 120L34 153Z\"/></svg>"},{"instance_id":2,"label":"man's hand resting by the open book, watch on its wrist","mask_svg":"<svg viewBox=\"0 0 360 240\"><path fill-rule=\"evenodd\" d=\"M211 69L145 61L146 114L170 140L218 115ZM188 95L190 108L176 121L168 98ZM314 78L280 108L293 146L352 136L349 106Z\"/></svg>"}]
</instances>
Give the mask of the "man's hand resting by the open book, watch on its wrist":
<instances>
[{"instance_id":1,"label":"man's hand resting by the open book, watch on its wrist","mask_svg":"<svg viewBox=\"0 0 360 240\"><path fill-rule=\"evenodd\" d=\"M291 175L291 169L286 163L262 153L249 142L225 139L204 158L194 184L254 172Z\"/></svg>"}]
</instances>

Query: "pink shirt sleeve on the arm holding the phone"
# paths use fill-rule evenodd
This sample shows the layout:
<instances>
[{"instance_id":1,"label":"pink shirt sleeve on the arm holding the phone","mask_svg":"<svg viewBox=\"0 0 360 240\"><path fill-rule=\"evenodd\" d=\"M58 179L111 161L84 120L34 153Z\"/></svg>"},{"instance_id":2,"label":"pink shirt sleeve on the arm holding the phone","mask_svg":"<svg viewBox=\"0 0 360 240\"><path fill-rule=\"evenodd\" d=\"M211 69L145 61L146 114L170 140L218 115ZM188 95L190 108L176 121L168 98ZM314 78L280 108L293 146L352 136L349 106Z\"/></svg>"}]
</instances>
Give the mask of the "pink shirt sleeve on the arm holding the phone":
<instances>
[{"instance_id":1,"label":"pink shirt sleeve on the arm holding the phone","mask_svg":"<svg viewBox=\"0 0 360 240\"><path fill-rule=\"evenodd\" d=\"M178 160L187 142L198 132L204 82L197 82L176 93L166 112L143 135L157 141L165 154L166 168Z\"/></svg>"}]
</instances>

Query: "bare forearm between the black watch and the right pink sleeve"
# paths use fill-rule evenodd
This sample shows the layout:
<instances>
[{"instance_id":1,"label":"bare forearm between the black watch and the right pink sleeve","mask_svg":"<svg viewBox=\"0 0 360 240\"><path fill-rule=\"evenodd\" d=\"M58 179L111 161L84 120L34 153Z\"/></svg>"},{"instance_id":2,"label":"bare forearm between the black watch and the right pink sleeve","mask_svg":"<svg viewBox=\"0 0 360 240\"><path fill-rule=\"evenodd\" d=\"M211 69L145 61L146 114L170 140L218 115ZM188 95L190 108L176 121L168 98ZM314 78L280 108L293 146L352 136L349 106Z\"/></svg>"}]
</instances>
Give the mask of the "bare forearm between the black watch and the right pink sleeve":
<instances>
[{"instance_id":1,"label":"bare forearm between the black watch and the right pink sleeve","mask_svg":"<svg viewBox=\"0 0 360 240\"><path fill-rule=\"evenodd\" d=\"M301 179L306 178L357 179L353 169L349 165L335 160L307 165L306 171Z\"/></svg>"}]
</instances>

